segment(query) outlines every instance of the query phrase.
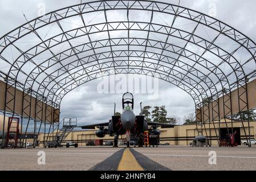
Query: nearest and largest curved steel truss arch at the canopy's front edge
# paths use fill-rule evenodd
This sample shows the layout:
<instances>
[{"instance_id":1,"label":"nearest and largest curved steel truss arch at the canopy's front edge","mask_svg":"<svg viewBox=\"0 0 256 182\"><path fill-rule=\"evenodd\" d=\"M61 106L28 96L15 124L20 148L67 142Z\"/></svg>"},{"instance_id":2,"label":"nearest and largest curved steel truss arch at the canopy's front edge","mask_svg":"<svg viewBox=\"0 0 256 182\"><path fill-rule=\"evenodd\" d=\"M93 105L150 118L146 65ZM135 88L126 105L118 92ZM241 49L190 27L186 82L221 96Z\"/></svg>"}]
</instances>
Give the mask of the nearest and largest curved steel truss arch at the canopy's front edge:
<instances>
[{"instance_id":1,"label":"nearest and largest curved steel truss arch at the canopy's front edge","mask_svg":"<svg viewBox=\"0 0 256 182\"><path fill-rule=\"evenodd\" d=\"M115 5L109 6L108 2L112 2ZM24 36L26 34L29 34L32 31L37 30L38 28L40 28L46 24L50 24L52 22L56 22L58 20L61 20L64 18L69 18L69 17L75 16L75 15L91 13L91 12L95 12L95 11L105 11L105 10L115 9L115 10L148 10L148 11L156 11L156 12L161 12L161 13L166 13L166 14L172 14L172 15L180 16L180 17L183 17L186 19L191 19L194 22L205 24L206 26L212 27L213 29L222 32L222 34L225 34L226 36L228 36L229 38L231 38L233 40L237 40L239 36L243 36L243 37L239 38L237 40L237 42L240 42L240 41L243 41L246 39L248 41L248 43L246 44L245 47L251 48L252 51L249 51L249 52L251 52L251 55L253 55L253 56L255 55L255 43L252 40L250 40L247 36L245 36L241 32L235 30L235 28L232 28L232 27L228 26L227 24L225 24L217 19L214 19L208 15L199 13L198 11L194 11L194 10L191 10L191 9L188 9L185 7L171 5L171 4L162 3L162 2L133 1L134 3L132 3L130 5L125 5L124 2L129 3L129 1L96 1L96 2L89 2L89 3L80 4L80 5L70 6L70 7L60 9L57 11L52 11L51 13L48 13L40 18L36 18L34 20L31 20L30 22L23 24L22 26L16 28L15 30L13 30L13 31L9 32L8 34L6 34L5 36L3 36L1 38L2 43L0 44L1 45L1 53L2 53L3 49L5 49L6 46L8 46L9 44L12 44L13 42L15 42L15 40L21 38L22 36ZM143 5L141 5L140 2L148 3L148 5L143 6ZM98 3L96 5L97 8L93 8L91 5L96 4L96 3ZM134 8L133 6L135 5L135 3L139 3L140 6L139 7L136 6L136 8ZM105 8L105 4L107 5L107 8ZM117 6L122 6L121 4L123 4L123 8L117 7ZM154 5L155 5L155 9L154 9ZM83 6L82 10L81 10L80 6ZM88 6L90 6L90 8ZM161 9L160 6L165 6L165 7ZM86 11L87 8L91 9L91 11ZM169 8L171 8L171 9L169 9ZM72 15L68 14L68 13L71 13L71 10L75 11L75 14L72 14ZM61 11L63 11L63 12L61 12ZM59 19L56 15L59 17ZM62 15L64 15L64 16L62 16ZM44 18L44 17L48 17L48 16L49 16L49 18ZM52 17L55 17L55 19ZM201 17L201 18L199 18L199 17ZM42 19L42 18L44 18L44 19ZM54 19L54 20L52 20L52 19ZM47 20L48 20L48 22L47 22ZM43 25L39 25L40 23L42 23ZM23 31L27 31L27 32L23 32ZM232 32L233 32L233 34L232 34ZM253 46L251 46L251 45L253 45ZM255 56L253 58L255 60Z\"/></svg>"}]
</instances>

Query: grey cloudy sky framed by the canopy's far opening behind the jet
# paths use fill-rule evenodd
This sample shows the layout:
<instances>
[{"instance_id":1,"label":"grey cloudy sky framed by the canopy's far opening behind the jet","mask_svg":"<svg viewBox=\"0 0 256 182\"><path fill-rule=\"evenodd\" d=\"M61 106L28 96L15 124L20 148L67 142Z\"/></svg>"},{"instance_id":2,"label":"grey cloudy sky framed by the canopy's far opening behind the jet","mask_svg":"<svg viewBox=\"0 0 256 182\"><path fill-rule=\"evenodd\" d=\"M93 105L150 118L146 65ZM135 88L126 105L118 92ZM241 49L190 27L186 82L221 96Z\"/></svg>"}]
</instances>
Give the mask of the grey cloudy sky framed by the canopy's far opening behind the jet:
<instances>
[{"instance_id":1,"label":"grey cloudy sky framed by the canopy's far opening behind the jet","mask_svg":"<svg viewBox=\"0 0 256 182\"><path fill-rule=\"evenodd\" d=\"M62 117L78 117L79 125L106 122L113 115L114 103L116 111L121 113L123 93L98 93L99 82L100 80L90 81L68 93L61 104ZM134 94L134 98L135 114L140 113L140 102L143 102L143 106L165 105L168 115L178 115L181 118L194 111L194 102L188 93L162 80L159 80L159 98L156 100L148 100L148 94L143 93Z\"/></svg>"}]
</instances>

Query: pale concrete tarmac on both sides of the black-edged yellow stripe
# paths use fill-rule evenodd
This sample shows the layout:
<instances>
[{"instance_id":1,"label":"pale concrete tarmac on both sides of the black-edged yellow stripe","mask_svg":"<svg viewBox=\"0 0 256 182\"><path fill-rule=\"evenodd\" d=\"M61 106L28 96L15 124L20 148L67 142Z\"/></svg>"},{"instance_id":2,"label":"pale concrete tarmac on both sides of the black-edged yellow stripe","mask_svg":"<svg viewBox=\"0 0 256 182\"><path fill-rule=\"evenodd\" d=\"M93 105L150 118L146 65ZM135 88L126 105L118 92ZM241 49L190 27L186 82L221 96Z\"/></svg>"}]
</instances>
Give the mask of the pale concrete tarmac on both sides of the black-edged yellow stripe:
<instances>
[{"instance_id":1,"label":"pale concrete tarmac on both sides of the black-edged yellow stripe","mask_svg":"<svg viewBox=\"0 0 256 182\"><path fill-rule=\"evenodd\" d=\"M132 148L170 170L256 170L256 146ZM107 146L5 149L0 150L0 170L88 170L121 149ZM45 165L38 164L38 151L46 153ZM216 152L216 164L209 164L209 151ZM135 157L137 161L141 158ZM143 166L143 160L139 163Z\"/></svg>"}]
</instances>

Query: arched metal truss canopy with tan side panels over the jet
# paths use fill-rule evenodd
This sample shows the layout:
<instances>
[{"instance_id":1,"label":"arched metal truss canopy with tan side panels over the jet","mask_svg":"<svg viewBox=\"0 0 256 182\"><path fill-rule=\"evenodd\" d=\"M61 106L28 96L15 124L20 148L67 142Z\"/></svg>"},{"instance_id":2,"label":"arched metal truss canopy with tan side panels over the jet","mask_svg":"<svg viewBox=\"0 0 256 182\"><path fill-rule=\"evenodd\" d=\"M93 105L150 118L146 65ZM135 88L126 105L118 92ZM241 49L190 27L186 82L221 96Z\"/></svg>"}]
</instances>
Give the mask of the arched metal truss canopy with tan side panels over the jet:
<instances>
[{"instance_id":1,"label":"arched metal truss canopy with tan side panels over the jet","mask_svg":"<svg viewBox=\"0 0 256 182\"><path fill-rule=\"evenodd\" d=\"M0 109L54 123L71 90L97 77L134 73L185 90L205 125L250 109L247 82L255 78L255 61L253 40L198 11L153 1L82 3L2 36Z\"/></svg>"}]
</instances>

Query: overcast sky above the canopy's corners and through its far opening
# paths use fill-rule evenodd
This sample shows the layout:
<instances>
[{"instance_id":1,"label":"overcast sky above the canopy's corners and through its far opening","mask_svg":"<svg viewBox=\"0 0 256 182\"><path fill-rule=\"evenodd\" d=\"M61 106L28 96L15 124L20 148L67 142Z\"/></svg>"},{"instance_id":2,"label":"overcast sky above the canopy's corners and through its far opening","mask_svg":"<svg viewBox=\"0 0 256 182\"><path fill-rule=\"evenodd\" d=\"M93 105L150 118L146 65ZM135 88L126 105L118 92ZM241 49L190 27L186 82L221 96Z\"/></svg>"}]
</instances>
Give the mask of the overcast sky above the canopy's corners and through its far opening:
<instances>
[{"instance_id":1,"label":"overcast sky above the canopy's corners and through its far opening","mask_svg":"<svg viewBox=\"0 0 256 182\"><path fill-rule=\"evenodd\" d=\"M85 1L82 1L85 2ZM162 1L176 4L178 0ZM23 13L28 20L37 16L38 8L45 6L46 13L66 6L80 3L80 0L0 0L0 36L26 23ZM256 1L247 0L181 0L181 6L214 15L221 20L243 32L256 41ZM212 13L213 8L216 11ZM149 80L149 78L148 78ZM79 125L108 121L113 113L113 103L116 111L121 112L121 93L100 93L99 84L102 80L94 80L68 93L61 105L61 117L77 117ZM183 90L167 82L159 80L158 95L149 100L145 93L135 94L135 113L139 113L140 102L143 106L165 105L168 115L177 115L183 119L184 115L194 112L192 98Z\"/></svg>"}]
</instances>

